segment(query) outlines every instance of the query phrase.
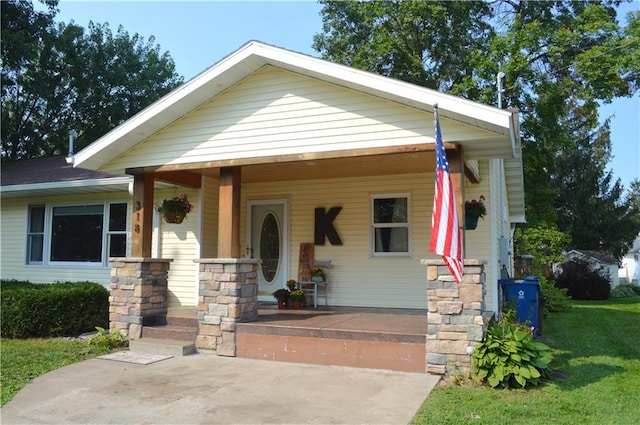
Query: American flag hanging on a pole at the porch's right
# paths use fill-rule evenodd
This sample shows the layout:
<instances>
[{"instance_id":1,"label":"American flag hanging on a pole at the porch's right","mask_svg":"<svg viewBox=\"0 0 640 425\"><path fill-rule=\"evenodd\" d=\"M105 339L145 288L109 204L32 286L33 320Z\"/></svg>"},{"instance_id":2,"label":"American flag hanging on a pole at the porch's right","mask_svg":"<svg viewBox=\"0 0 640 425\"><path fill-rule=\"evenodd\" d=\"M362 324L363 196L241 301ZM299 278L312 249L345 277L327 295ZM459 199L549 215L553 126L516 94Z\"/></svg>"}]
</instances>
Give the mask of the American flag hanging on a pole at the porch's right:
<instances>
[{"instance_id":1,"label":"American flag hanging on a pole at the porch's right","mask_svg":"<svg viewBox=\"0 0 640 425\"><path fill-rule=\"evenodd\" d=\"M442 142L438 107L435 107L436 127L436 193L431 215L431 246L429 250L442 255L456 282L462 280L464 256L462 255L462 233L458 225L456 199L451 185L447 153Z\"/></svg>"}]
</instances>

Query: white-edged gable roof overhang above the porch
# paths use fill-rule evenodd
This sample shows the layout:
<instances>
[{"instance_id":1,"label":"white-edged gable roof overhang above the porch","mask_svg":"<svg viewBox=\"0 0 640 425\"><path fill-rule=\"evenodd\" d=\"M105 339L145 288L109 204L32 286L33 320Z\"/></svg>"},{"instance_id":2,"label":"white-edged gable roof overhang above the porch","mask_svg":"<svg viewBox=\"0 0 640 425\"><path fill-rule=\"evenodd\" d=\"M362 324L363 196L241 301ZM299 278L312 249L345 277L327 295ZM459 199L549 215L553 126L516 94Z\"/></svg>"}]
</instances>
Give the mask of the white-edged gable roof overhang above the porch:
<instances>
[{"instance_id":1,"label":"white-edged gable roof overhang above the porch","mask_svg":"<svg viewBox=\"0 0 640 425\"><path fill-rule=\"evenodd\" d=\"M467 159L505 159L512 221L524 221L524 185L517 111L498 109L404 81L251 41L136 114L74 157L74 165L99 170L217 95L265 66L291 71L433 113L486 133L460 143ZM429 142L429 141L427 141ZM431 140L433 142L433 140Z\"/></svg>"}]
</instances>

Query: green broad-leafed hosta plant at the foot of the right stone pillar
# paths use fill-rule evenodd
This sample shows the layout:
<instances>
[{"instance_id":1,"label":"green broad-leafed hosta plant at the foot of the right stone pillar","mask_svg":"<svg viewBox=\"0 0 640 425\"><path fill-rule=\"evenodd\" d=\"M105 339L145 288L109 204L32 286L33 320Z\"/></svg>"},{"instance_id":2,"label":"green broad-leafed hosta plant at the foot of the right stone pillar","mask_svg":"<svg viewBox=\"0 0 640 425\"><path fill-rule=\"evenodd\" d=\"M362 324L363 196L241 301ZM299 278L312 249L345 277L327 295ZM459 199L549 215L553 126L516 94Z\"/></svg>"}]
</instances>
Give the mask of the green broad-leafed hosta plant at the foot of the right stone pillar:
<instances>
[{"instance_id":1,"label":"green broad-leafed hosta plant at the foot of the right stone pillar","mask_svg":"<svg viewBox=\"0 0 640 425\"><path fill-rule=\"evenodd\" d=\"M551 376L549 347L533 340L533 330L514 323L515 312L506 312L489 325L485 340L471 357L474 379L493 388L535 386Z\"/></svg>"}]
</instances>

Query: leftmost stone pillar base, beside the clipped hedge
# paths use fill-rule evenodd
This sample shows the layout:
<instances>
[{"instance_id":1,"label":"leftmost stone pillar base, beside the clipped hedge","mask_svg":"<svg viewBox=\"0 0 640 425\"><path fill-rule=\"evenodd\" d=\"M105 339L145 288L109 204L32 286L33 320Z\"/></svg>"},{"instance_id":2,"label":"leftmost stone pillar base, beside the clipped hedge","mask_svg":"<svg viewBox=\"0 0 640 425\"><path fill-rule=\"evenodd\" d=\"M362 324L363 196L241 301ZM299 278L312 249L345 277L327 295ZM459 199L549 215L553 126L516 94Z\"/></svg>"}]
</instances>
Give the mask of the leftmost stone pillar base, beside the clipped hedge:
<instances>
[{"instance_id":1,"label":"leftmost stone pillar base, beside the clipped hedge","mask_svg":"<svg viewBox=\"0 0 640 425\"><path fill-rule=\"evenodd\" d=\"M167 274L173 260L112 257L109 261L109 329L140 338L143 325L166 321Z\"/></svg>"}]
</instances>

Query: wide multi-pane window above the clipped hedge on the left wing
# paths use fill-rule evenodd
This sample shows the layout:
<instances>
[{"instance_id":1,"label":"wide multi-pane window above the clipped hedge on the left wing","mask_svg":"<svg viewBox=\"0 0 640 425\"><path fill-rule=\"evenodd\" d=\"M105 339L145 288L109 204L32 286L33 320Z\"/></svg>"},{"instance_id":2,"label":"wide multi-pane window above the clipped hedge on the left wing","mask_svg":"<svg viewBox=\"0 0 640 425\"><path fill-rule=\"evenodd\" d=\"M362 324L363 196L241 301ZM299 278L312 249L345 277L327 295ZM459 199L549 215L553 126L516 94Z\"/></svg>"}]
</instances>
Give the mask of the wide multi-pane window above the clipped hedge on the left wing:
<instances>
[{"instance_id":1,"label":"wide multi-pane window above the clipped hedge on the left wing","mask_svg":"<svg viewBox=\"0 0 640 425\"><path fill-rule=\"evenodd\" d=\"M27 264L106 264L126 255L127 204L29 207Z\"/></svg>"}]
</instances>

